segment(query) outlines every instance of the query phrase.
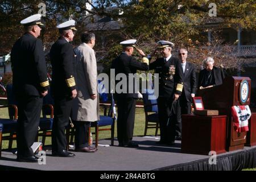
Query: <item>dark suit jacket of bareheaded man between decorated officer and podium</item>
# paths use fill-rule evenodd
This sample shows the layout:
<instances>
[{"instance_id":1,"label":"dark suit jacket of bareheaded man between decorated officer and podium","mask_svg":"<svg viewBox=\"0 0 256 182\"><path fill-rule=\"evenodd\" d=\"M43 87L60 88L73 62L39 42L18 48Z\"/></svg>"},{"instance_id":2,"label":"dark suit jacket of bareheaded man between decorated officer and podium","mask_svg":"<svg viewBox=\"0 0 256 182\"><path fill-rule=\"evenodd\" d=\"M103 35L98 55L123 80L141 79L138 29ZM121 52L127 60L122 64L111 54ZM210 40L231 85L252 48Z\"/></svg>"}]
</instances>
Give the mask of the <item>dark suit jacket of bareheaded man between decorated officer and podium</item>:
<instances>
[{"instance_id":1,"label":"dark suit jacket of bareheaded man between decorated officer and podium","mask_svg":"<svg viewBox=\"0 0 256 182\"><path fill-rule=\"evenodd\" d=\"M183 92L188 102L191 102L191 93L196 94L196 69L192 63L186 63L183 73Z\"/></svg>"}]
</instances>

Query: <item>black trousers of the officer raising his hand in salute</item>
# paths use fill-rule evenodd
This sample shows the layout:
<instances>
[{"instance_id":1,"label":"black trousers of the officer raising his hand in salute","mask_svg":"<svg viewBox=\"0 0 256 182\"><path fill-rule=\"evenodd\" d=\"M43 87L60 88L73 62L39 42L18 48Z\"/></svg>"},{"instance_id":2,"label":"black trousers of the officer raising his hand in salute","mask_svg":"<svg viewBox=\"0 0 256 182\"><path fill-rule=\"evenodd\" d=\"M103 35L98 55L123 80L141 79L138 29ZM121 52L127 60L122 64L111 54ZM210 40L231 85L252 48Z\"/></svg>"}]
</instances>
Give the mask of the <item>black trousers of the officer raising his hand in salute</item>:
<instances>
[{"instance_id":1,"label":"black trousers of the officer raising his hand in salute","mask_svg":"<svg viewBox=\"0 0 256 182\"><path fill-rule=\"evenodd\" d=\"M117 98L117 138L119 145L133 139L136 98Z\"/></svg>"}]
</instances>

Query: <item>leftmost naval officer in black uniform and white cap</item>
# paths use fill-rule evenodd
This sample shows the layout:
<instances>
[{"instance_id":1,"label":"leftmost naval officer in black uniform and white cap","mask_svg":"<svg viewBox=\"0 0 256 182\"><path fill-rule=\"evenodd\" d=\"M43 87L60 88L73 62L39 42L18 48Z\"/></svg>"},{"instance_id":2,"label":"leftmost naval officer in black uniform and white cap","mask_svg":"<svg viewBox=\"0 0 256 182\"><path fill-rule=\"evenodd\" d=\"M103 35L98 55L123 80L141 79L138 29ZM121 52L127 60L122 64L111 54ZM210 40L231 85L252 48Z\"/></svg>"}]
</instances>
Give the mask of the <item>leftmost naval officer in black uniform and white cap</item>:
<instances>
[{"instance_id":1,"label":"leftmost naval officer in black uniform and white cap","mask_svg":"<svg viewBox=\"0 0 256 182\"><path fill-rule=\"evenodd\" d=\"M43 97L47 94L46 60L40 35L41 15L36 14L20 22L25 33L11 49L13 90L18 101L17 160L38 162L32 151L38 133Z\"/></svg>"}]
</instances>

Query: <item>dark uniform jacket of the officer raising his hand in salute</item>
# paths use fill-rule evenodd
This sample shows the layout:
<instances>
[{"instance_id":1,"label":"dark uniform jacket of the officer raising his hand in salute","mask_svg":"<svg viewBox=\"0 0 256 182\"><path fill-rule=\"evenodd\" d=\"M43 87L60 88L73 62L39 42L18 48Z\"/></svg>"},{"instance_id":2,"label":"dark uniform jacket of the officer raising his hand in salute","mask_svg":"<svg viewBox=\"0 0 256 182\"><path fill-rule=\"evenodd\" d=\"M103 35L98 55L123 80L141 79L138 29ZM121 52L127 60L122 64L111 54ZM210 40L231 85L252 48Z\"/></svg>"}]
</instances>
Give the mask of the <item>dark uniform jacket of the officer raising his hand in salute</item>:
<instances>
[{"instance_id":1,"label":"dark uniform jacket of the officer raising his hand in salute","mask_svg":"<svg viewBox=\"0 0 256 182\"><path fill-rule=\"evenodd\" d=\"M127 53L122 52L115 60L112 62L112 69L115 69L115 76L118 73L124 73L127 77L127 92L115 94L116 98L138 98L138 93L135 92L135 84L137 81L133 79L133 93L129 93L129 73L137 73L138 70L147 71L148 64L137 61L133 56L127 55ZM115 85L119 81L115 81ZM121 88L122 89L122 88ZM116 90L115 90L116 93Z\"/></svg>"}]
</instances>

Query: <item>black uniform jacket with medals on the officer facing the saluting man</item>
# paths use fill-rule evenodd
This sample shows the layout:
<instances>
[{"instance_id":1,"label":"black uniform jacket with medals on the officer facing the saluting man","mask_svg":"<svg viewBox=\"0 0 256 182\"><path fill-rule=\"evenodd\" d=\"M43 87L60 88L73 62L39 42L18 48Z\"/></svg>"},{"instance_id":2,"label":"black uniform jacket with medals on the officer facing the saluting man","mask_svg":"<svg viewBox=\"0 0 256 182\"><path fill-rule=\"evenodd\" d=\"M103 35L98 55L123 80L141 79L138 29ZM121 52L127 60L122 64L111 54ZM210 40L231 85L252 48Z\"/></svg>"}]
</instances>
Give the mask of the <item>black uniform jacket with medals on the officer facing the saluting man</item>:
<instances>
[{"instance_id":1,"label":"black uniform jacket with medals on the officer facing the saluting man","mask_svg":"<svg viewBox=\"0 0 256 182\"><path fill-rule=\"evenodd\" d=\"M179 59L171 56L164 62L164 58L158 58L149 64L150 69L159 73L159 96L172 97L174 93L181 94L183 89L183 71Z\"/></svg>"}]
</instances>

